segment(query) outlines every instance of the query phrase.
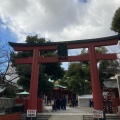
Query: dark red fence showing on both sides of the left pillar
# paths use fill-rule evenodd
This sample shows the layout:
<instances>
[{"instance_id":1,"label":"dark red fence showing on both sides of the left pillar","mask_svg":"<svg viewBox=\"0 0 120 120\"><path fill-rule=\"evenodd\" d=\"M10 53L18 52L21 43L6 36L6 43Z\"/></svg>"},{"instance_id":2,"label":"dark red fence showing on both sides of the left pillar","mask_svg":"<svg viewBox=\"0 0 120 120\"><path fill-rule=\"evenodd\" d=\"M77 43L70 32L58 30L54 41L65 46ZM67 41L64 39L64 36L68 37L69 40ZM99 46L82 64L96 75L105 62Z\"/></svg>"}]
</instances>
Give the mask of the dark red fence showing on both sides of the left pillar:
<instances>
[{"instance_id":1,"label":"dark red fence showing on both sides of the left pillar","mask_svg":"<svg viewBox=\"0 0 120 120\"><path fill-rule=\"evenodd\" d=\"M17 98L16 99L16 104L23 104L24 105L24 112L27 112L28 99ZM43 99L42 98L37 99L37 111L38 112L43 112Z\"/></svg>"}]
</instances>

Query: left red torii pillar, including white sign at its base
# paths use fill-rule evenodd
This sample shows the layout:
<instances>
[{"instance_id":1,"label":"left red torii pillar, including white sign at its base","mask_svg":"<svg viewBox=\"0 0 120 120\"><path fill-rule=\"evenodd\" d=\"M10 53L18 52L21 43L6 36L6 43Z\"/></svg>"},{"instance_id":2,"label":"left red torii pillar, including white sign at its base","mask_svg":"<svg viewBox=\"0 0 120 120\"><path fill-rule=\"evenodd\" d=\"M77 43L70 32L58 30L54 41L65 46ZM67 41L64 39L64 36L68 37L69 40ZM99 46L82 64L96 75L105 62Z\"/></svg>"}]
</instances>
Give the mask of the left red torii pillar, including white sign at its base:
<instances>
[{"instance_id":1,"label":"left red torii pillar, including white sign at its base","mask_svg":"<svg viewBox=\"0 0 120 120\"><path fill-rule=\"evenodd\" d=\"M38 77L39 77L39 49L33 50L32 59L32 71L31 71L31 82L30 82L30 95L28 101L27 114L33 112L34 116L32 118L27 116L26 120L36 120L37 119L37 96L38 96Z\"/></svg>"}]
</instances>

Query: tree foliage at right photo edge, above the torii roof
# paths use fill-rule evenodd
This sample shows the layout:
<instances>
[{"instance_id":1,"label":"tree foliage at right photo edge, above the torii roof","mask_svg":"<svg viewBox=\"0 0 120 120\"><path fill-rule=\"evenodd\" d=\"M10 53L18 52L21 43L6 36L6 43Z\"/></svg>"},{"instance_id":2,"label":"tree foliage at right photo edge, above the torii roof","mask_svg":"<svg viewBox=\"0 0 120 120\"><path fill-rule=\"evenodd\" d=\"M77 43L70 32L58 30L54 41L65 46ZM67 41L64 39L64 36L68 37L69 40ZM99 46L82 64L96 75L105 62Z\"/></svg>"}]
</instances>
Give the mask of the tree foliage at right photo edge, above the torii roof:
<instances>
[{"instance_id":1,"label":"tree foliage at right photo edge, above the torii roof","mask_svg":"<svg viewBox=\"0 0 120 120\"><path fill-rule=\"evenodd\" d=\"M115 11L115 14L113 16L111 30L120 34L120 7Z\"/></svg>"}]
</instances>

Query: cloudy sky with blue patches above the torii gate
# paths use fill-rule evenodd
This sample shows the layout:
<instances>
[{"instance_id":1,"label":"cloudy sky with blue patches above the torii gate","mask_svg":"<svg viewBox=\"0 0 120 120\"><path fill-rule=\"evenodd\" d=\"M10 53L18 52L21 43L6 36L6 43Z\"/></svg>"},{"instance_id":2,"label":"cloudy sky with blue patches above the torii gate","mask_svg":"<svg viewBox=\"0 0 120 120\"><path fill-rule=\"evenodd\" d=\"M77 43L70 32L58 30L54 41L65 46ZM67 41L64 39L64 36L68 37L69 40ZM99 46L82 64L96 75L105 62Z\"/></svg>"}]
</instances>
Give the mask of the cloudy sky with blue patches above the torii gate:
<instances>
[{"instance_id":1,"label":"cloudy sky with blue patches above the torii gate","mask_svg":"<svg viewBox=\"0 0 120 120\"><path fill-rule=\"evenodd\" d=\"M38 34L51 41L115 35L120 0L0 0L0 40L24 42Z\"/></svg>"}]
</instances>

